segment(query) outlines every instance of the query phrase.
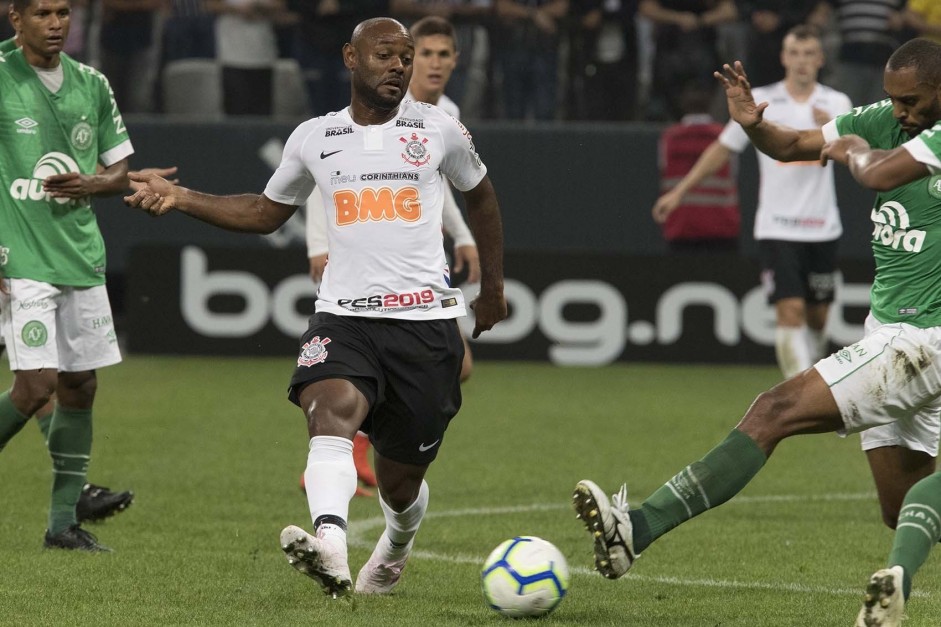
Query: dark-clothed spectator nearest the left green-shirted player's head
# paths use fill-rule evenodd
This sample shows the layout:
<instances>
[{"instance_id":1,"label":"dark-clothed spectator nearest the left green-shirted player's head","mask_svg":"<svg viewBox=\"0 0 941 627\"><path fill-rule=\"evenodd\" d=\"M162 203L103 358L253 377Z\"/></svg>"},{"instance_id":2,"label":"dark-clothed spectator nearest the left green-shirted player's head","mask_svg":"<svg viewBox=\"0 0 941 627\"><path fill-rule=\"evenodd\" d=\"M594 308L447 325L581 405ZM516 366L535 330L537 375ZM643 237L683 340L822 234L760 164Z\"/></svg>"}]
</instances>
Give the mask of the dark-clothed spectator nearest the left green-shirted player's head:
<instances>
[{"instance_id":1,"label":"dark-clothed spectator nearest the left green-shirted player's head","mask_svg":"<svg viewBox=\"0 0 941 627\"><path fill-rule=\"evenodd\" d=\"M157 77L154 29L161 4L162 0L103 0L101 4L100 69L111 82L123 113L153 110Z\"/></svg>"}]
</instances>

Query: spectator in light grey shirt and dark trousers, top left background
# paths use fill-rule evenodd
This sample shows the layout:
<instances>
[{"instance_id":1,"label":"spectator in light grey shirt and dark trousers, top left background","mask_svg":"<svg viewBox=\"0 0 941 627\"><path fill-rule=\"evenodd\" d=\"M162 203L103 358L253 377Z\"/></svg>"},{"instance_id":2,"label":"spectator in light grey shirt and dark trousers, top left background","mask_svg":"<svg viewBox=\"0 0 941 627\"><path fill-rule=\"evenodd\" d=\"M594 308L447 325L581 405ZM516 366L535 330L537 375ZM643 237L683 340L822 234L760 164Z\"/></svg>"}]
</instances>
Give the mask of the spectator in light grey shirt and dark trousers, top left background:
<instances>
[{"instance_id":1,"label":"spectator in light grey shirt and dark trousers, top left background","mask_svg":"<svg viewBox=\"0 0 941 627\"><path fill-rule=\"evenodd\" d=\"M216 58L222 66L226 115L271 115L276 24L287 19L284 0L207 0L216 14Z\"/></svg>"}]
</instances>

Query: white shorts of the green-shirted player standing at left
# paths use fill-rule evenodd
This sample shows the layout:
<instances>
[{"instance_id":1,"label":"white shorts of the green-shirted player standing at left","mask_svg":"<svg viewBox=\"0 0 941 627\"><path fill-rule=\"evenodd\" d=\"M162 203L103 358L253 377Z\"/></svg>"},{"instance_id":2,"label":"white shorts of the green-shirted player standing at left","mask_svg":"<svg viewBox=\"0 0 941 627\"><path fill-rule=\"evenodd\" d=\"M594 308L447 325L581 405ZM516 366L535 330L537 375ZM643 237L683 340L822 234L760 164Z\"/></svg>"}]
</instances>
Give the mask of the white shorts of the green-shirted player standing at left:
<instances>
[{"instance_id":1,"label":"white shorts of the green-shirted player standing at left","mask_svg":"<svg viewBox=\"0 0 941 627\"><path fill-rule=\"evenodd\" d=\"M84 372L121 361L104 285L68 287L4 279L0 334L10 370Z\"/></svg>"}]
</instances>

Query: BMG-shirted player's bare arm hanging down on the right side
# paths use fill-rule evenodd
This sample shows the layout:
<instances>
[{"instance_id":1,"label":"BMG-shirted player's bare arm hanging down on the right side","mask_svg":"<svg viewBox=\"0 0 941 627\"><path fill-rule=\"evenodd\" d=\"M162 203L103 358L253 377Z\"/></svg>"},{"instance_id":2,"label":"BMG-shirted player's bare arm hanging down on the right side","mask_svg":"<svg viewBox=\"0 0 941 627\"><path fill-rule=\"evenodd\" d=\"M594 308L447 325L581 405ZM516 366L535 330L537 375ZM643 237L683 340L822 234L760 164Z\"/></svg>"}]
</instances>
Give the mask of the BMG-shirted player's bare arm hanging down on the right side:
<instances>
[{"instance_id":1,"label":"BMG-shirted player's bare arm hanging down on the right side","mask_svg":"<svg viewBox=\"0 0 941 627\"><path fill-rule=\"evenodd\" d=\"M485 176L475 188L464 192L464 201L480 254L480 292L471 303L476 338L507 315L503 296L503 220L490 177Z\"/></svg>"}]
</instances>

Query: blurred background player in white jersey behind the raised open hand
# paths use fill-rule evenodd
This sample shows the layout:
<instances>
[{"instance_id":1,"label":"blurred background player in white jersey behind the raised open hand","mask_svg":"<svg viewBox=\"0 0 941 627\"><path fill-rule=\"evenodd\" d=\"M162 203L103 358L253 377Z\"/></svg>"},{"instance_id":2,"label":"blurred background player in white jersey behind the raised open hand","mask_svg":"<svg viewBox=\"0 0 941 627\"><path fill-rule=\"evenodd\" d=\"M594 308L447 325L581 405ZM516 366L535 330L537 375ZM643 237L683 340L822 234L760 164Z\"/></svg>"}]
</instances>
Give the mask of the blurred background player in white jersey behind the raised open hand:
<instances>
[{"instance_id":1,"label":"blurred background player in white jersey behind the raised open hand","mask_svg":"<svg viewBox=\"0 0 941 627\"><path fill-rule=\"evenodd\" d=\"M784 80L754 90L755 98L770 103L765 118L813 129L849 111L852 105L846 94L817 82L823 62L817 32L809 26L791 29L781 49ZM729 121L689 173L657 199L654 219L665 222L690 190L749 143L742 127ZM758 166L755 239L762 283L775 307L775 354L787 378L810 368L826 353L842 226L832 166L821 168L816 161L782 163L760 152Z\"/></svg>"}]
</instances>

